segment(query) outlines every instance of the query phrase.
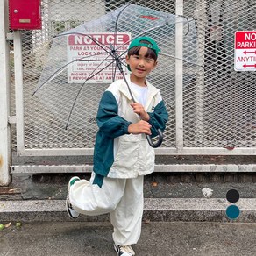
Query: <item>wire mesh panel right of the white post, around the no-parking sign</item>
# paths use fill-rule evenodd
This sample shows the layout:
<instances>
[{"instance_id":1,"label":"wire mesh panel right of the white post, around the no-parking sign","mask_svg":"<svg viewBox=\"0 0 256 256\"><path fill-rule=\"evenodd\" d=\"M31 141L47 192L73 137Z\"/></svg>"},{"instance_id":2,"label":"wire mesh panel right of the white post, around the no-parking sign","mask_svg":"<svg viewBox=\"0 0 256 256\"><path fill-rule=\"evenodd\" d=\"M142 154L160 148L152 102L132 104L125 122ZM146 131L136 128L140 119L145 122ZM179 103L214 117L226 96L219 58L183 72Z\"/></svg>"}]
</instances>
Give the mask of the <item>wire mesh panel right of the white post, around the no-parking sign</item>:
<instances>
[{"instance_id":1,"label":"wire mesh panel right of the white post, around the no-parking sign","mask_svg":"<svg viewBox=\"0 0 256 256\"><path fill-rule=\"evenodd\" d=\"M234 71L234 34L254 31L254 1L187 1L193 14L199 63L184 71L184 146L255 146L255 79ZM189 74L189 72L188 72Z\"/></svg>"}]
</instances>

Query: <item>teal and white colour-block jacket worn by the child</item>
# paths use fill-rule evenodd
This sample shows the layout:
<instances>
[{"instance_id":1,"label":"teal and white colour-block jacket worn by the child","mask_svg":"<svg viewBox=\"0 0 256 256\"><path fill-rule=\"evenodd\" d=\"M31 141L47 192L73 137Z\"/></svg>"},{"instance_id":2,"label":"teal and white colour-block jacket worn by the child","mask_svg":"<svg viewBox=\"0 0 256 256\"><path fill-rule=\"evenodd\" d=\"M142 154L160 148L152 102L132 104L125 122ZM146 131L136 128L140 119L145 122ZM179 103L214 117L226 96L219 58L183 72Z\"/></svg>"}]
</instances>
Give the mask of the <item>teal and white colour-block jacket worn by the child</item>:
<instances>
[{"instance_id":1,"label":"teal and white colour-block jacket worn by the child","mask_svg":"<svg viewBox=\"0 0 256 256\"><path fill-rule=\"evenodd\" d=\"M130 76L126 76L131 84ZM152 137L157 129L166 128L167 109L160 90L146 82L148 96L145 110L150 116ZM131 87L130 87L131 88ZM136 101L136 94L132 91ZM145 134L129 134L128 126L139 122L132 110L132 98L124 80L113 82L103 93L97 112L94 172L111 178L135 178L153 172L154 150L149 146Z\"/></svg>"}]
</instances>

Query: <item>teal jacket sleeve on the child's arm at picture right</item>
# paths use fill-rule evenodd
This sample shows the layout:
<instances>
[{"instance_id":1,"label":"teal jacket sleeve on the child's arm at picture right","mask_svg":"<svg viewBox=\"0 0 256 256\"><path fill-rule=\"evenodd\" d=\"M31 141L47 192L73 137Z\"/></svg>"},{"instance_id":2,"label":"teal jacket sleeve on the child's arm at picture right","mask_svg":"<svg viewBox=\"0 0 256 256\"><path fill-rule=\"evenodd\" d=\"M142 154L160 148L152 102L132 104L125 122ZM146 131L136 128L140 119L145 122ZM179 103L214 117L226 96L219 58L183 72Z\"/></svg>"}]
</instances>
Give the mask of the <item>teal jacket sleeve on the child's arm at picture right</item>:
<instances>
[{"instance_id":1,"label":"teal jacket sleeve on the child's arm at picture right","mask_svg":"<svg viewBox=\"0 0 256 256\"><path fill-rule=\"evenodd\" d=\"M160 129L161 131L164 131L166 129L166 123L168 120L168 112L163 100L161 100L160 103L158 103L154 107L153 112L149 112L148 115L150 117L149 124L152 125L151 137L155 137L158 135L158 129Z\"/></svg>"}]
</instances>

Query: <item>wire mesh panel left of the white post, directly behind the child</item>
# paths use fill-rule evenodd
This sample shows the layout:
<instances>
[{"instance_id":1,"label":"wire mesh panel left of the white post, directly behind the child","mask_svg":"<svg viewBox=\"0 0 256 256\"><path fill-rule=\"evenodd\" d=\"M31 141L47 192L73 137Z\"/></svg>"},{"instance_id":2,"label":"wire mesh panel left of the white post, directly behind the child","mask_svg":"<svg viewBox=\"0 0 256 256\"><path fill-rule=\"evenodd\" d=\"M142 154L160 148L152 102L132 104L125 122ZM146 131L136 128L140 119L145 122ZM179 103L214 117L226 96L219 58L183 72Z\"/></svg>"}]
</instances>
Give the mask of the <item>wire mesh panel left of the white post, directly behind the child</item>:
<instances>
[{"instance_id":1,"label":"wire mesh panel left of the white post, directly behind the child","mask_svg":"<svg viewBox=\"0 0 256 256\"><path fill-rule=\"evenodd\" d=\"M86 82L75 102L68 129L65 129L65 126L75 96L81 88L81 81L68 82L68 71L65 69L39 89L35 95L32 94L40 84L46 81L47 77L53 75L63 65L67 58L67 39L63 37L54 39L54 36L58 36L61 32L72 31L76 27L78 30L79 27L86 27L87 33L115 32L115 19L117 19L115 11L118 8L122 9L127 3L125 1L43 1L43 30L23 34L25 42L25 148L90 148L94 146L97 106L103 91L110 82ZM145 8L139 9L140 12L144 11L145 15L149 13L152 17L141 18L138 6ZM149 81L161 89L170 114L163 146L174 146L175 5L174 3L166 4L164 1L139 1L129 8L132 11L127 11L127 9L124 14L118 16L117 31L130 33L131 37L135 32L152 36L157 39L160 48L165 48L163 50L166 51L163 52L172 53L171 57L160 56L159 67L153 71ZM155 11L159 12L156 14ZM157 27L146 31L146 21L152 22L153 15L168 15L172 24L167 28ZM98 19L99 22L95 24L90 22ZM154 24L157 24L159 18L155 19ZM102 25L102 20L108 22ZM184 24L188 30L188 21L185 19ZM193 35L196 35L195 26ZM32 51L29 52L31 49Z\"/></svg>"}]
</instances>

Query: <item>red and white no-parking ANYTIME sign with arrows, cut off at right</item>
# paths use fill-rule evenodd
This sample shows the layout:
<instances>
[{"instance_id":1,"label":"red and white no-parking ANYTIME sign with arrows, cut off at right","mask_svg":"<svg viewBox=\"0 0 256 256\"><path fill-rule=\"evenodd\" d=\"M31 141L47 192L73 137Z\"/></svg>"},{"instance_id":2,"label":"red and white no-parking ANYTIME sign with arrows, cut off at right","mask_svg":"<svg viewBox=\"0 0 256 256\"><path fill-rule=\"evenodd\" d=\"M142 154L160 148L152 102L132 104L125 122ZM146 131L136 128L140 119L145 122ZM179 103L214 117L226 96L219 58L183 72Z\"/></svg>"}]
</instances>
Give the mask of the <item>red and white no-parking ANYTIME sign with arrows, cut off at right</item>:
<instances>
[{"instance_id":1,"label":"red and white no-parking ANYTIME sign with arrows, cut off at right","mask_svg":"<svg viewBox=\"0 0 256 256\"><path fill-rule=\"evenodd\" d=\"M238 31L235 33L235 70L256 70L256 32Z\"/></svg>"}]
</instances>

